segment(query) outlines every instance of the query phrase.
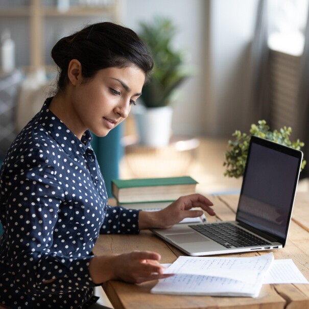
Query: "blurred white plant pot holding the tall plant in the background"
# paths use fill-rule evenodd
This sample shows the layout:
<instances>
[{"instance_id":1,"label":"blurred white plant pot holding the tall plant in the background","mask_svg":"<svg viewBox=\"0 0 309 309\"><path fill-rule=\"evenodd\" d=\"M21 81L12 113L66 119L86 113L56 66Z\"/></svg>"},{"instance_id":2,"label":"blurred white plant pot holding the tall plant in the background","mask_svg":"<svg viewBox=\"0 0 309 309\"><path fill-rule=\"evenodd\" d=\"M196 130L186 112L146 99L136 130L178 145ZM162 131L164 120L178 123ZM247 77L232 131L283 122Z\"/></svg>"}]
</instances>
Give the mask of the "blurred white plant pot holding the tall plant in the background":
<instances>
[{"instance_id":1,"label":"blurred white plant pot holding the tall plant in the background","mask_svg":"<svg viewBox=\"0 0 309 309\"><path fill-rule=\"evenodd\" d=\"M146 108L138 105L132 110L141 145L150 147L169 145L173 116L171 106Z\"/></svg>"}]
</instances>

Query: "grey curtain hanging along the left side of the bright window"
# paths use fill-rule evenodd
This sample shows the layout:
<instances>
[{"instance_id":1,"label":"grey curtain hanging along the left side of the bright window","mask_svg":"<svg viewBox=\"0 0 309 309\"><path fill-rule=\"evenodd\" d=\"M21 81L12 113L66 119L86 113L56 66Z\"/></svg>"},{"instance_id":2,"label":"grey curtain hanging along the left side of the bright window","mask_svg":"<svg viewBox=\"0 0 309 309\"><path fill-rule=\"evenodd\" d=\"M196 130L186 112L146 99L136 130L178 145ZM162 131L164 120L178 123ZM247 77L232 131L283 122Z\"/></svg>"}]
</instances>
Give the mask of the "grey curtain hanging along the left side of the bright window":
<instances>
[{"instance_id":1,"label":"grey curtain hanging along the left side of the bright window","mask_svg":"<svg viewBox=\"0 0 309 309\"><path fill-rule=\"evenodd\" d=\"M269 48L266 0L259 0L253 41L250 49L250 85L246 102L246 127L269 121Z\"/></svg>"}]
</instances>

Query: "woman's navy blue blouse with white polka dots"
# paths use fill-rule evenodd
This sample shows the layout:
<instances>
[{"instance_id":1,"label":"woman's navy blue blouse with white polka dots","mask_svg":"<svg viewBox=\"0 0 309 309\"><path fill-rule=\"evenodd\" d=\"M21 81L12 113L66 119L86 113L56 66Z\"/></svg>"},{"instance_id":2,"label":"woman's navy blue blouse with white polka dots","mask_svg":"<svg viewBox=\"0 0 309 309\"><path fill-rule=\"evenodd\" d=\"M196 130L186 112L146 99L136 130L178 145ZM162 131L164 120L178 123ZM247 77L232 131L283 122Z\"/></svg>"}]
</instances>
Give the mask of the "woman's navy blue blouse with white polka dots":
<instances>
[{"instance_id":1,"label":"woman's navy blue blouse with white polka dots","mask_svg":"<svg viewBox=\"0 0 309 309\"><path fill-rule=\"evenodd\" d=\"M107 205L86 131L49 109L14 140L0 174L0 303L78 308L93 295L88 266L100 233L138 233L138 210Z\"/></svg>"}]
</instances>

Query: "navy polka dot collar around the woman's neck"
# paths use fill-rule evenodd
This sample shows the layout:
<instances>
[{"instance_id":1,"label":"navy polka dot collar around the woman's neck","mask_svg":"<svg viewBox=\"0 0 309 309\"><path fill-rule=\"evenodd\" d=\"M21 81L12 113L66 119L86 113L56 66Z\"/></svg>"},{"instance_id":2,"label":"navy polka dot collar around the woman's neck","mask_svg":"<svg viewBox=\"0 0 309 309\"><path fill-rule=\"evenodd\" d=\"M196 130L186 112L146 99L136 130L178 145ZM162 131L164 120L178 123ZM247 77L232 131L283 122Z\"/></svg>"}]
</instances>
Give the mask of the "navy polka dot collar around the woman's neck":
<instances>
[{"instance_id":1,"label":"navy polka dot collar around the woman's neck","mask_svg":"<svg viewBox=\"0 0 309 309\"><path fill-rule=\"evenodd\" d=\"M49 110L53 98L48 98L44 102L38 117L39 123L46 131L57 141L61 148L69 157L79 161L80 155L83 155L90 147L92 136L89 130L86 130L80 140L68 127Z\"/></svg>"}]
</instances>

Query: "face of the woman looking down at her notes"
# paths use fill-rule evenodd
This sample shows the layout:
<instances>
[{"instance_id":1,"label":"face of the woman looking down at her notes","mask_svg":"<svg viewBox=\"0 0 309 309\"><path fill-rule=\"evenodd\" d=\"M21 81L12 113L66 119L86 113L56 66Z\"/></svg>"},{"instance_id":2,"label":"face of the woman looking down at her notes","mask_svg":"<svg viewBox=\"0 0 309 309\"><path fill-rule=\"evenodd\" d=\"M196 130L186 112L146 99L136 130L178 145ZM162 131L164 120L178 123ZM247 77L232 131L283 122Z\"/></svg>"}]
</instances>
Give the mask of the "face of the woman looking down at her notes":
<instances>
[{"instance_id":1,"label":"face of the woman looking down at her notes","mask_svg":"<svg viewBox=\"0 0 309 309\"><path fill-rule=\"evenodd\" d=\"M78 137L89 129L105 136L129 115L141 94L145 73L136 66L109 67L89 80L79 80L71 93L74 132Z\"/></svg>"}]
</instances>

